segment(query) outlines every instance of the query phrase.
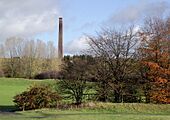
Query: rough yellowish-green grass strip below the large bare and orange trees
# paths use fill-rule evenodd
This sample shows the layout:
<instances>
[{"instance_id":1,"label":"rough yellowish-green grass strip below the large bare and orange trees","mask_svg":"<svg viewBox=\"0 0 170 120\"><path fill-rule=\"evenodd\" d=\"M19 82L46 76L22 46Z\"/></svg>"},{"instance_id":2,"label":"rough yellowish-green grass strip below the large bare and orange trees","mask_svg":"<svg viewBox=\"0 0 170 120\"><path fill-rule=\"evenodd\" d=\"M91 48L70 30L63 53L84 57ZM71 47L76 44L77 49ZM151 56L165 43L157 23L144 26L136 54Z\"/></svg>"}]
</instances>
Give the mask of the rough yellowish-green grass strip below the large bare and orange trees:
<instances>
[{"instance_id":1,"label":"rough yellowish-green grass strip below the large bare and orange trees","mask_svg":"<svg viewBox=\"0 0 170 120\"><path fill-rule=\"evenodd\" d=\"M114 113L133 114L167 114L170 115L170 104L142 104L142 103L89 103L95 110Z\"/></svg>"}]
</instances>

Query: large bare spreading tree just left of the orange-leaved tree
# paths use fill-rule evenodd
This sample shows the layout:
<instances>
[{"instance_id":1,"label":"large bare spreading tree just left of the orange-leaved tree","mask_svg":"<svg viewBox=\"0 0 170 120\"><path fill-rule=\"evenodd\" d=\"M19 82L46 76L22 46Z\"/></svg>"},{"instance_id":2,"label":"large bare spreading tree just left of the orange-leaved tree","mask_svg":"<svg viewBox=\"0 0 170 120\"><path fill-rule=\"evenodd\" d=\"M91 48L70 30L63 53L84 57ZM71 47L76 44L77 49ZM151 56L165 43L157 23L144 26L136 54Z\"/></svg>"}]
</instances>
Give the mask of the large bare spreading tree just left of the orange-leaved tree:
<instances>
[{"instance_id":1,"label":"large bare spreading tree just left of the orange-leaved tree","mask_svg":"<svg viewBox=\"0 0 170 120\"><path fill-rule=\"evenodd\" d=\"M114 102L123 102L126 84L128 80L132 80L131 76L135 71L137 36L134 28L130 27L124 31L103 29L96 37L88 36L88 41L89 53L100 58L104 68L102 70L99 66L100 72L97 73L100 75L100 84L105 82L112 88Z\"/></svg>"}]
</instances>

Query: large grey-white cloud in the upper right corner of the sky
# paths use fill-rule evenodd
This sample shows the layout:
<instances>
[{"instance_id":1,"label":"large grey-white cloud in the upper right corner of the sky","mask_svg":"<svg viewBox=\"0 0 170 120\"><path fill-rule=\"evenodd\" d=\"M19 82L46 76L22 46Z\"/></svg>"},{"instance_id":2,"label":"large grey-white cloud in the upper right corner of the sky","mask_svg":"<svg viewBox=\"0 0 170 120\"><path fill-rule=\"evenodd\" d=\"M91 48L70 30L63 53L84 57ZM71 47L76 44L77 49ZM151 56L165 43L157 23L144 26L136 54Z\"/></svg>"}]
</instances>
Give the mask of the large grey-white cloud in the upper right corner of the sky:
<instances>
[{"instance_id":1,"label":"large grey-white cloud in the upper right corner of the sky","mask_svg":"<svg viewBox=\"0 0 170 120\"><path fill-rule=\"evenodd\" d=\"M113 14L109 23L129 23L141 20L145 17L161 16L166 11L170 10L170 4L166 1L148 2L139 1L138 4L127 6L121 11Z\"/></svg>"}]
</instances>

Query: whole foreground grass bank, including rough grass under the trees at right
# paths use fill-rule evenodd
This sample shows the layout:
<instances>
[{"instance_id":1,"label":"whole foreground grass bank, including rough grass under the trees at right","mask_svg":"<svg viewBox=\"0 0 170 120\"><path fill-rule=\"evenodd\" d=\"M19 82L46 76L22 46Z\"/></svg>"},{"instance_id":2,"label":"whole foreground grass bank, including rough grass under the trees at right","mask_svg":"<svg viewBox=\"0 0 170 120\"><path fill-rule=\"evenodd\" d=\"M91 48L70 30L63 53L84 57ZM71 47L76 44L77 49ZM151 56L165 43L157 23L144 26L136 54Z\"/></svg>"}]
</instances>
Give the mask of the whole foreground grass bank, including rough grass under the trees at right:
<instances>
[{"instance_id":1,"label":"whole foreground grass bank, including rough grass under the trees at right","mask_svg":"<svg viewBox=\"0 0 170 120\"><path fill-rule=\"evenodd\" d=\"M89 103L92 104L92 103ZM0 120L169 120L170 105L93 103L92 108L0 114Z\"/></svg>"}]
</instances>

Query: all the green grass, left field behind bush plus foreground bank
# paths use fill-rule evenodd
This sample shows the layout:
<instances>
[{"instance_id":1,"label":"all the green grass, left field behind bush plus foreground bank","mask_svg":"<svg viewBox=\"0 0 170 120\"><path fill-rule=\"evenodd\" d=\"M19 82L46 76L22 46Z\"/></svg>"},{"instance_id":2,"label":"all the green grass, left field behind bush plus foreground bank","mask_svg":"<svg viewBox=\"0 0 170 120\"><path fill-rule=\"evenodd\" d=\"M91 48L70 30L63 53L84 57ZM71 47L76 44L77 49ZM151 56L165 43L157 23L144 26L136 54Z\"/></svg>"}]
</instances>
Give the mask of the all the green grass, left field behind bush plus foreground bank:
<instances>
[{"instance_id":1,"label":"all the green grass, left field behind bush plus foreground bank","mask_svg":"<svg viewBox=\"0 0 170 120\"><path fill-rule=\"evenodd\" d=\"M41 109L4 112L13 107L13 96L26 90L31 84L48 83L51 80L26 80L0 78L0 120L170 120L170 105L136 103L89 103L84 109Z\"/></svg>"}]
</instances>

